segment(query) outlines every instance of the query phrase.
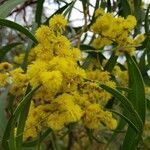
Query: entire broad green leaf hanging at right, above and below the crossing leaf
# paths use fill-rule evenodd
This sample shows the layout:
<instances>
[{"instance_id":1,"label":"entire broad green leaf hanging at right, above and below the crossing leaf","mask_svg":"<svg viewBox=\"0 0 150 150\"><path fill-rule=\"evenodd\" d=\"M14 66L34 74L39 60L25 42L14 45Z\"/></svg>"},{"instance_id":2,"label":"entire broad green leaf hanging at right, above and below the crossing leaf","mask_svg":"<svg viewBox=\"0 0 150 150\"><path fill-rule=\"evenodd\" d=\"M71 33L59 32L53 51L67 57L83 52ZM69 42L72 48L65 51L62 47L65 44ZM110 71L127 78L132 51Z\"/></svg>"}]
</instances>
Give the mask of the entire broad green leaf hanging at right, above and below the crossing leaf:
<instances>
[{"instance_id":1,"label":"entire broad green leaf hanging at right, above and below the crossing leaf","mask_svg":"<svg viewBox=\"0 0 150 150\"><path fill-rule=\"evenodd\" d=\"M137 111L144 124L146 113L146 99L143 78L133 58L128 54L126 55L126 58L129 73L129 88L132 89L132 93L128 93L128 98L133 104L134 109ZM136 149L141 138L141 134L142 132L137 133L129 126L123 142L123 150Z\"/></svg>"}]
</instances>

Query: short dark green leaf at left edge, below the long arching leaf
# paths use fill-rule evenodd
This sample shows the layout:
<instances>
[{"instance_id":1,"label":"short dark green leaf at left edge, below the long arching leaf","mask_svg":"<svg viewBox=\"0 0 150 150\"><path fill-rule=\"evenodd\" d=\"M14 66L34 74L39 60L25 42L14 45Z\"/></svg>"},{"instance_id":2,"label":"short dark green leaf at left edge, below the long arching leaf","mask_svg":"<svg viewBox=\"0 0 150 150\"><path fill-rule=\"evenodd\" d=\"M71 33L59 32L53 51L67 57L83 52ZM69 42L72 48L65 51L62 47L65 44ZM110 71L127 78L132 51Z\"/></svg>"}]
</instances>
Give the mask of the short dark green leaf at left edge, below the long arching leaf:
<instances>
[{"instance_id":1,"label":"short dark green leaf at left edge, below the long arching leaf","mask_svg":"<svg viewBox=\"0 0 150 150\"><path fill-rule=\"evenodd\" d=\"M0 48L0 61L5 58L5 55L14 47L21 45L22 43L11 43Z\"/></svg>"}]
</instances>

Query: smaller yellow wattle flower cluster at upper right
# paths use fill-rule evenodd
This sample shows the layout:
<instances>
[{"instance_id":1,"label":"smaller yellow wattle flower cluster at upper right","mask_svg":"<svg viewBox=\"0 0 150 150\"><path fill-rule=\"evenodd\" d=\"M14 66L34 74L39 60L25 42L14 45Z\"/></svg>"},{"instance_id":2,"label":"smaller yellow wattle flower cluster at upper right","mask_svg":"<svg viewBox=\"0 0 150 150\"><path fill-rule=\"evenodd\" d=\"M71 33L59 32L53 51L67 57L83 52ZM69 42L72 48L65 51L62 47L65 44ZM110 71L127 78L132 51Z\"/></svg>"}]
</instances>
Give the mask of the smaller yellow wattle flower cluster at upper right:
<instances>
[{"instance_id":1,"label":"smaller yellow wattle flower cluster at upper right","mask_svg":"<svg viewBox=\"0 0 150 150\"><path fill-rule=\"evenodd\" d=\"M97 9L95 13L96 21L91 26L96 38L92 45L96 49L103 49L105 46L114 46L117 55L128 53L134 54L136 47L144 41L144 35L139 34L135 38L132 30L137 21L134 16L114 17L111 13L105 13L103 9Z\"/></svg>"}]
</instances>

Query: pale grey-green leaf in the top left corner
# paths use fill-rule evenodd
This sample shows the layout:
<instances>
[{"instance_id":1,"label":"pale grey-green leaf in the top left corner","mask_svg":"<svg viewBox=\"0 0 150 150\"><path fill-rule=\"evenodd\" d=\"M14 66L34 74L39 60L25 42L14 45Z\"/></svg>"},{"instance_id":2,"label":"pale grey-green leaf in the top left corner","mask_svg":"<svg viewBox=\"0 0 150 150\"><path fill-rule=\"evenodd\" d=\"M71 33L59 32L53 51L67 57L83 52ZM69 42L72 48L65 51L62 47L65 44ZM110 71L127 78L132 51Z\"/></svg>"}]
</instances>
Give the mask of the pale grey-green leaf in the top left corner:
<instances>
[{"instance_id":1,"label":"pale grey-green leaf in the top left corner","mask_svg":"<svg viewBox=\"0 0 150 150\"><path fill-rule=\"evenodd\" d=\"M19 4L24 3L26 0L8 0L0 6L0 17L6 18L9 13Z\"/></svg>"}]
</instances>

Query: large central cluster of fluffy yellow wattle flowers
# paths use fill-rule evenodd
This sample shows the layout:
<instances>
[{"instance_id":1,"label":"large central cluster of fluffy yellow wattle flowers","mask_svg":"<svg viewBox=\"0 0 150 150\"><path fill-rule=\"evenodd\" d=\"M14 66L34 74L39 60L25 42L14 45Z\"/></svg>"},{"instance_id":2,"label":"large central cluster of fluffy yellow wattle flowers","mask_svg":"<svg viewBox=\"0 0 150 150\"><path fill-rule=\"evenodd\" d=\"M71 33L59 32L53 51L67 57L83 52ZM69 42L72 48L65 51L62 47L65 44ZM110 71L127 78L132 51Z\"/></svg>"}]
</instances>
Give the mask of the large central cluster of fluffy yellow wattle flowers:
<instances>
[{"instance_id":1,"label":"large central cluster of fluffy yellow wattle flowers","mask_svg":"<svg viewBox=\"0 0 150 150\"><path fill-rule=\"evenodd\" d=\"M116 128L116 119L104 108L111 95L99 87L106 84L115 88L115 83L108 72L85 71L78 65L80 50L63 35L66 25L62 15L55 15L49 26L37 29L39 43L30 52L27 71L9 66L7 77L6 72L0 74L6 78L0 85L8 84L9 78L10 93L17 97L24 94L28 84L32 88L41 85L32 98L24 140L38 136L45 128L59 131L70 123L91 129L102 124Z\"/></svg>"}]
</instances>

